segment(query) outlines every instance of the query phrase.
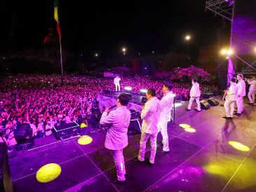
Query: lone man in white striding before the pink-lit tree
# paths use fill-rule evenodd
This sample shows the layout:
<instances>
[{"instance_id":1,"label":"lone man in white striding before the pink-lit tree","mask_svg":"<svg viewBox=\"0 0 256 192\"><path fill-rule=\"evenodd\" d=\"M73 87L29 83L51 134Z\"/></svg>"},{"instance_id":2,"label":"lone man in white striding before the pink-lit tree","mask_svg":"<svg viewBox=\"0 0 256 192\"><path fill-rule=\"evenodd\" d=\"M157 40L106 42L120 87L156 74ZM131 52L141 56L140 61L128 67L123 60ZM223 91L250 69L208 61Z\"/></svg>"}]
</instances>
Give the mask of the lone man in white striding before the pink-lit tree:
<instances>
[{"instance_id":1,"label":"lone man in white striding before the pink-lit tree","mask_svg":"<svg viewBox=\"0 0 256 192\"><path fill-rule=\"evenodd\" d=\"M190 90L190 100L189 100L189 106L186 108L187 111L191 110L191 106L194 102L194 100L196 100L197 103L197 109L196 111L201 111L201 105L200 105L200 89L199 89L199 84L197 83L196 79L192 80L192 88Z\"/></svg>"}]
</instances>

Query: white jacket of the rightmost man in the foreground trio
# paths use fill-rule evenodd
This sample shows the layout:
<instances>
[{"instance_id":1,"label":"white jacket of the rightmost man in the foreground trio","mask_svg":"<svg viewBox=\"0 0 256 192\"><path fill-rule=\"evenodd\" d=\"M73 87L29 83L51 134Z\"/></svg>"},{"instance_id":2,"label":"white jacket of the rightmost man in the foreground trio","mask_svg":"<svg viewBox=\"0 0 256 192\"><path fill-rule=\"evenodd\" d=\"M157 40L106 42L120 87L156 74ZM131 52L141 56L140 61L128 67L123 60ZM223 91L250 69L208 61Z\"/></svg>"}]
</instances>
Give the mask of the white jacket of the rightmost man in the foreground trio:
<instances>
[{"instance_id":1,"label":"white jacket of the rightmost man in the foreground trio","mask_svg":"<svg viewBox=\"0 0 256 192\"><path fill-rule=\"evenodd\" d=\"M170 111L173 107L173 92L168 92L166 95L162 97L160 100L160 120L169 122L170 121Z\"/></svg>"}]
</instances>

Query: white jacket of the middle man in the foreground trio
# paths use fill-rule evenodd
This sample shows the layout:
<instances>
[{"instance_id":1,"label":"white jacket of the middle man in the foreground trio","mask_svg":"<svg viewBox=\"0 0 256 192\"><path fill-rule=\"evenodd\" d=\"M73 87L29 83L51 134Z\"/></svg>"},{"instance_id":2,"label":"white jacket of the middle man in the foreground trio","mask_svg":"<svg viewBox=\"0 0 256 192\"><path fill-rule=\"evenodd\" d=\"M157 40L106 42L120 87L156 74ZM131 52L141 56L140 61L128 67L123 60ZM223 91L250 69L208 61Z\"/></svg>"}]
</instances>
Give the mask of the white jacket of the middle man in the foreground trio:
<instances>
[{"instance_id":1,"label":"white jacket of the middle man in the foreground trio","mask_svg":"<svg viewBox=\"0 0 256 192\"><path fill-rule=\"evenodd\" d=\"M142 109L141 118L142 132L154 134L159 132L159 118L160 118L161 106L157 97L152 97L145 103L144 109Z\"/></svg>"}]
</instances>

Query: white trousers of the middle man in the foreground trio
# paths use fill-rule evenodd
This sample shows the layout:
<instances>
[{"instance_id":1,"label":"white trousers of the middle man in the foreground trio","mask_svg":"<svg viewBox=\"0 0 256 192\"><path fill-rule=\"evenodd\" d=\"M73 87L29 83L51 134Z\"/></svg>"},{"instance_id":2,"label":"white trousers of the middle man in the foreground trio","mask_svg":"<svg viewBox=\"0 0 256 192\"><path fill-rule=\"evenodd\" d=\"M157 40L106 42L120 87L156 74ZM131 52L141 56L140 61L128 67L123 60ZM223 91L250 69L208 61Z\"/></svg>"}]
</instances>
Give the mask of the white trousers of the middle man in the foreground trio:
<instances>
[{"instance_id":1,"label":"white trousers of the middle man in the foreground trio","mask_svg":"<svg viewBox=\"0 0 256 192\"><path fill-rule=\"evenodd\" d=\"M151 153L150 153L150 158L149 162L154 163L155 161L155 156L156 156L156 137L157 137L158 132L154 134L149 134L146 132L142 132L141 138L140 138L140 151L139 151L139 156L138 159L141 161L144 161L144 155L146 152L146 144L147 144L147 139L150 137L150 144L151 144Z\"/></svg>"}]
</instances>

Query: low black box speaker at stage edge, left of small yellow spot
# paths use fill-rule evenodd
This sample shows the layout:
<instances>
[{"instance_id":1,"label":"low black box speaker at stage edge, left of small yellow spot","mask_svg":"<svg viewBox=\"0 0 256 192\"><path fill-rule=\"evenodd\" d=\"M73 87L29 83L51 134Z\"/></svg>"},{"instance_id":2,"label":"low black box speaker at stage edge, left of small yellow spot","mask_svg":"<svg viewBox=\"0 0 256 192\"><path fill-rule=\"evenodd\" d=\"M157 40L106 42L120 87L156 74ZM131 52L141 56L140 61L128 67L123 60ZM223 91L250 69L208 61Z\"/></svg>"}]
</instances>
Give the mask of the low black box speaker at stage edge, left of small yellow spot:
<instances>
[{"instance_id":1,"label":"low black box speaker at stage edge, left of small yellow spot","mask_svg":"<svg viewBox=\"0 0 256 192\"><path fill-rule=\"evenodd\" d=\"M73 135L77 132L80 132L80 125L76 122L53 126L53 135L56 139Z\"/></svg>"}]
</instances>

